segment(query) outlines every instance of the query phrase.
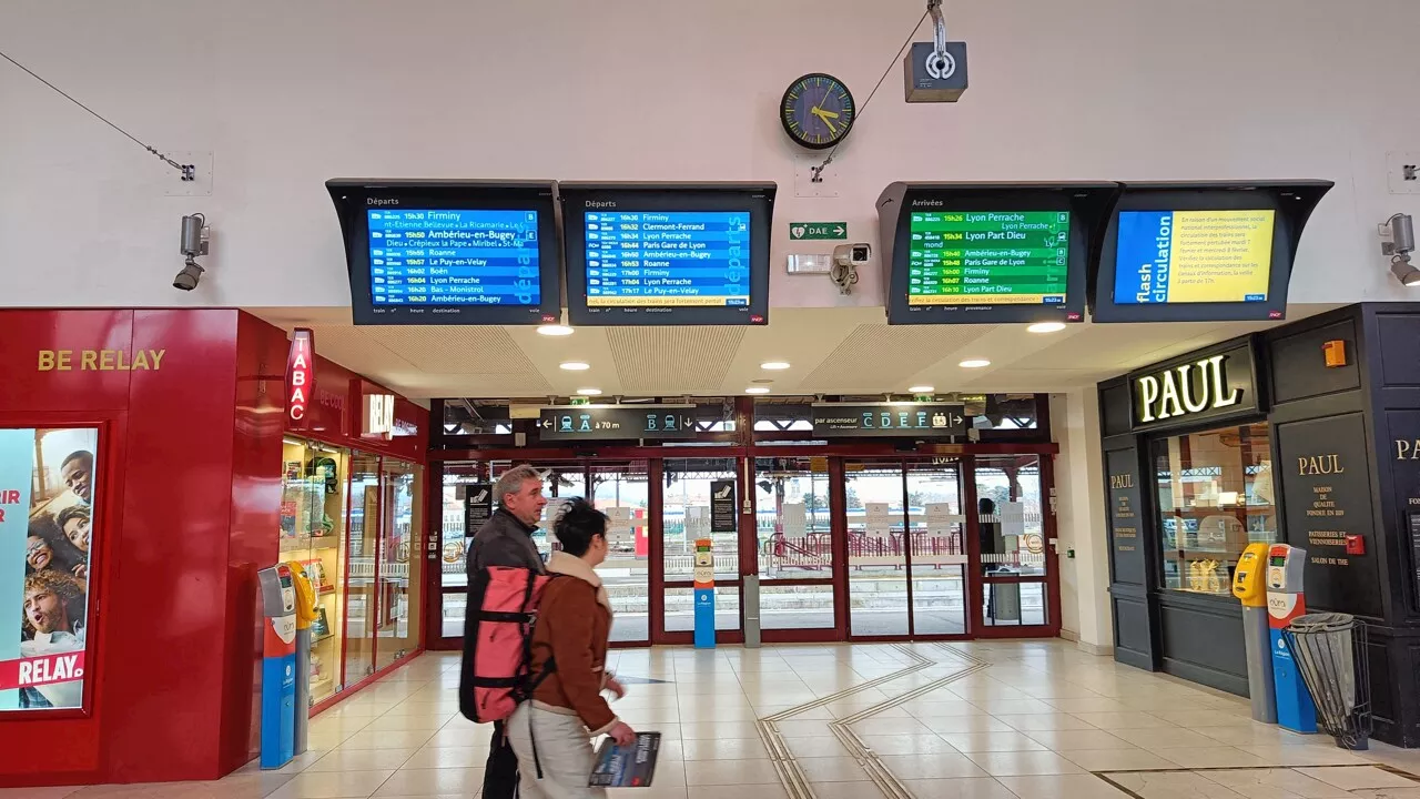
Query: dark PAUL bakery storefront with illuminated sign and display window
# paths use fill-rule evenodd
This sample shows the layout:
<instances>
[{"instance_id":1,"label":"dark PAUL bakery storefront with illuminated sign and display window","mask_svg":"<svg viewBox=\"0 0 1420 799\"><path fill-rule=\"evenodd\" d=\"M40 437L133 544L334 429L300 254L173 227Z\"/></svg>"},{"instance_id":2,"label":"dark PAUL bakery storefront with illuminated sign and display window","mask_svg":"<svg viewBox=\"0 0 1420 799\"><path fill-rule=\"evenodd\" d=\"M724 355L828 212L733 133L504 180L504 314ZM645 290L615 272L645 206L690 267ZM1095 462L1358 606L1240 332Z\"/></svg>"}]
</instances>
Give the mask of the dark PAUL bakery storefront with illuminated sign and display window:
<instances>
[{"instance_id":1,"label":"dark PAUL bakery storefront with illuminated sign and display window","mask_svg":"<svg viewBox=\"0 0 1420 799\"><path fill-rule=\"evenodd\" d=\"M1355 306L1099 385L1115 657L1247 694L1233 572L1306 549L1306 606L1370 626L1376 738L1420 745L1420 314Z\"/></svg>"}]
</instances>

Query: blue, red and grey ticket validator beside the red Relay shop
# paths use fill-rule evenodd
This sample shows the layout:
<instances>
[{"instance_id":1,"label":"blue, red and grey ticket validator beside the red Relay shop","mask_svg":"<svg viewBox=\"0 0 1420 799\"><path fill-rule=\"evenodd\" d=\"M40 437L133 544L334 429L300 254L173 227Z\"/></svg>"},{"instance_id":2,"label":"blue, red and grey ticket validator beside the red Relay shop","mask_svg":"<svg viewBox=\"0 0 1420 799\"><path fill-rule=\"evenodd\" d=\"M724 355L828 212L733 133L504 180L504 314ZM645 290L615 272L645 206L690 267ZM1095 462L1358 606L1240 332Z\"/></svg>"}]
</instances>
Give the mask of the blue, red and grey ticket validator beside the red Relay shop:
<instances>
[{"instance_id":1,"label":"blue, red and grey ticket validator beside the red Relay shop","mask_svg":"<svg viewBox=\"0 0 1420 799\"><path fill-rule=\"evenodd\" d=\"M295 583L278 563L257 573L261 584L261 768L295 756Z\"/></svg>"}]
</instances>

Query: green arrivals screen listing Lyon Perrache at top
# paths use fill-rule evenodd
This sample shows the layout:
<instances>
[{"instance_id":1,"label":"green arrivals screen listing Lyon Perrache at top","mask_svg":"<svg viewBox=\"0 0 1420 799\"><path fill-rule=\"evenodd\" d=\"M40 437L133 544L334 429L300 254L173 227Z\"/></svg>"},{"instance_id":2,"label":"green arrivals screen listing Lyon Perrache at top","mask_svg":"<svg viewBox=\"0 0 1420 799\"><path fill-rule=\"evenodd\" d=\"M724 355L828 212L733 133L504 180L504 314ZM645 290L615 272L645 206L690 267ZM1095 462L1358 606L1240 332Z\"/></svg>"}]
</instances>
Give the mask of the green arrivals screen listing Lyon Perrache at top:
<instances>
[{"instance_id":1,"label":"green arrivals screen listing Lyon Perrache at top","mask_svg":"<svg viewBox=\"0 0 1420 799\"><path fill-rule=\"evenodd\" d=\"M913 212L910 306L1064 304L1069 212Z\"/></svg>"}]
</instances>

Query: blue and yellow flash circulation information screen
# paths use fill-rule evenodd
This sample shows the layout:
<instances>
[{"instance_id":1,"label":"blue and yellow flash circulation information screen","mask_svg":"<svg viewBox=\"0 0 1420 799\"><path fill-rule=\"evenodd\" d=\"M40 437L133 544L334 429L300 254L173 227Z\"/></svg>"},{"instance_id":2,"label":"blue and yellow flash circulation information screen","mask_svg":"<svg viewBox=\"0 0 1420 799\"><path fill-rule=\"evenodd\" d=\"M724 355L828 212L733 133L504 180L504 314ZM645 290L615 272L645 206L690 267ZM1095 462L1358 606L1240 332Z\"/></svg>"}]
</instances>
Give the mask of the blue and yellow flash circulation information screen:
<instances>
[{"instance_id":1,"label":"blue and yellow flash circulation information screen","mask_svg":"<svg viewBox=\"0 0 1420 799\"><path fill-rule=\"evenodd\" d=\"M1115 303L1264 303L1274 210L1122 210Z\"/></svg>"}]
</instances>

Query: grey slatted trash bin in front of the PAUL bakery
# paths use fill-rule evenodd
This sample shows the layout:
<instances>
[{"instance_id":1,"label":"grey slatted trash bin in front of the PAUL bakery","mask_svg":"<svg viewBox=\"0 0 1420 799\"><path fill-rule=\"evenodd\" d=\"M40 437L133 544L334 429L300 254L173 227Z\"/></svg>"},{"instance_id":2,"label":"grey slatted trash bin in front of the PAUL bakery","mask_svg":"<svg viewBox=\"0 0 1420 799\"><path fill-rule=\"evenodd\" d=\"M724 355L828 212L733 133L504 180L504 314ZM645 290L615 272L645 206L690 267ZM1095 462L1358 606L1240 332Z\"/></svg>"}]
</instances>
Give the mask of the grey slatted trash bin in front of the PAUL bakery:
<instances>
[{"instance_id":1,"label":"grey slatted trash bin in front of the PAUL bakery","mask_svg":"<svg viewBox=\"0 0 1420 799\"><path fill-rule=\"evenodd\" d=\"M1316 705L1318 726L1342 749L1367 749L1372 715L1366 624L1348 613L1308 613L1294 618L1284 636Z\"/></svg>"}]
</instances>

